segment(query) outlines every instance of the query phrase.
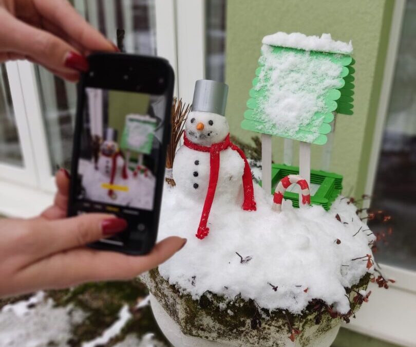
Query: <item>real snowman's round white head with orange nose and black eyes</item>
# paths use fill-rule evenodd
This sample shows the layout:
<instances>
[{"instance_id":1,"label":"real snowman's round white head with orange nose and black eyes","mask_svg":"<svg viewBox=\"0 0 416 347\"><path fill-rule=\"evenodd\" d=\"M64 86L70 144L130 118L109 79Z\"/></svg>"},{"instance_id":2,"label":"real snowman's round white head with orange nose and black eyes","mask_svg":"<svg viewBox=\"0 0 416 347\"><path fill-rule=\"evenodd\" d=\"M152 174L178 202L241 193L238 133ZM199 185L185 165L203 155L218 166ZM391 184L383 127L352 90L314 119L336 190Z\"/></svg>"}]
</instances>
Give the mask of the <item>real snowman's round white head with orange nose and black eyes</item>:
<instances>
[{"instance_id":1,"label":"real snowman's round white head with orange nose and black eyes","mask_svg":"<svg viewBox=\"0 0 416 347\"><path fill-rule=\"evenodd\" d=\"M230 126L224 116L192 111L186 119L185 131L191 142L206 146L223 141L230 132Z\"/></svg>"}]
</instances>

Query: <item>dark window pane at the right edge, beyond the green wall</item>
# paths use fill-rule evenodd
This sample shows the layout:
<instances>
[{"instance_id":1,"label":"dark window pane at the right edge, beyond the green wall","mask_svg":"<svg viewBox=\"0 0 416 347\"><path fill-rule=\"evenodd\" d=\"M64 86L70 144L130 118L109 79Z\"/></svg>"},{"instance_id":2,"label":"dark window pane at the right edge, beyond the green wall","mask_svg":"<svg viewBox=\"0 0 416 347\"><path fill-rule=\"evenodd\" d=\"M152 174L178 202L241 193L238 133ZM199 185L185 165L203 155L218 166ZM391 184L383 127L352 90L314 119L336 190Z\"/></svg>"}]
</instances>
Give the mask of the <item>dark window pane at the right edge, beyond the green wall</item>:
<instances>
[{"instance_id":1,"label":"dark window pane at the right edge, beyond the green wall","mask_svg":"<svg viewBox=\"0 0 416 347\"><path fill-rule=\"evenodd\" d=\"M416 0L408 0L396 61L372 205L391 214L392 235L377 243L377 260L416 269Z\"/></svg>"}]
</instances>

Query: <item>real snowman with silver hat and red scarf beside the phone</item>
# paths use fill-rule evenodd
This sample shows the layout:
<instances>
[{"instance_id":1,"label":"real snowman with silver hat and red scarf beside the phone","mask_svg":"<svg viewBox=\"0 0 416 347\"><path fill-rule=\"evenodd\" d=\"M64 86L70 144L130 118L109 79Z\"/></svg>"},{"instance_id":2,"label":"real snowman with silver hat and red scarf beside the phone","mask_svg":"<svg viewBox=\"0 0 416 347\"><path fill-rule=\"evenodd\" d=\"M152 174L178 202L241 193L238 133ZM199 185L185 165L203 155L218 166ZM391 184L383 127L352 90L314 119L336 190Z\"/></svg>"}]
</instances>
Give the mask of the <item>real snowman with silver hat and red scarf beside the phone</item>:
<instances>
[{"instance_id":1,"label":"real snowman with silver hat and red scarf beside the phone","mask_svg":"<svg viewBox=\"0 0 416 347\"><path fill-rule=\"evenodd\" d=\"M244 153L230 141L230 126L224 116L228 85L198 80L192 110L185 123L184 144L175 155L173 178L187 197L204 202L197 238L206 227L213 204L224 199L255 210L253 180ZM239 201L240 200L240 201Z\"/></svg>"}]
</instances>

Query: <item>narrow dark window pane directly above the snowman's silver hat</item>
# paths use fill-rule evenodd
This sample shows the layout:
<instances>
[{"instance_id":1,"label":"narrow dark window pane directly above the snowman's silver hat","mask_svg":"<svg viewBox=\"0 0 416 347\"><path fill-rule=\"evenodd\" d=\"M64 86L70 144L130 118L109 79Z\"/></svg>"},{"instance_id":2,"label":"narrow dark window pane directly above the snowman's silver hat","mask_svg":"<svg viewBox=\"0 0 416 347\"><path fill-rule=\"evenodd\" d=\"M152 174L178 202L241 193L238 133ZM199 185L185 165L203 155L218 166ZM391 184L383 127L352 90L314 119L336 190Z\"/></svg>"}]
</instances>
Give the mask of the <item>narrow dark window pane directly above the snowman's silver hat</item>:
<instances>
[{"instance_id":1,"label":"narrow dark window pane directly above the snowman's silver hat","mask_svg":"<svg viewBox=\"0 0 416 347\"><path fill-rule=\"evenodd\" d=\"M225 20L226 0L206 2L205 77L225 79Z\"/></svg>"}]
</instances>

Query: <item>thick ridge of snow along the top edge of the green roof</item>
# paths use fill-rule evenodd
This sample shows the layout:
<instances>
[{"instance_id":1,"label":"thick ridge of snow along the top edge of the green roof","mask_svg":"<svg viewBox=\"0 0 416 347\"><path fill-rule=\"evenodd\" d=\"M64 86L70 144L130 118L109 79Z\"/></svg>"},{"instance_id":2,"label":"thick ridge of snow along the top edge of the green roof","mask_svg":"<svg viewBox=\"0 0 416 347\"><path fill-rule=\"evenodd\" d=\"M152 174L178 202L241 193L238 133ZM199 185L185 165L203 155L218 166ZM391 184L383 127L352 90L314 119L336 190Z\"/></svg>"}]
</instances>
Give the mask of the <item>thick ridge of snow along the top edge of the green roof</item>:
<instances>
[{"instance_id":1,"label":"thick ridge of snow along the top edge of the green roof","mask_svg":"<svg viewBox=\"0 0 416 347\"><path fill-rule=\"evenodd\" d=\"M271 35L264 36L263 44L270 46L290 47L303 50L315 50L330 53L352 53L352 43L334 41L331 34L322 34L319 36L307 36L300 32L276 32Z\"/></svg>"}]
</instances>

